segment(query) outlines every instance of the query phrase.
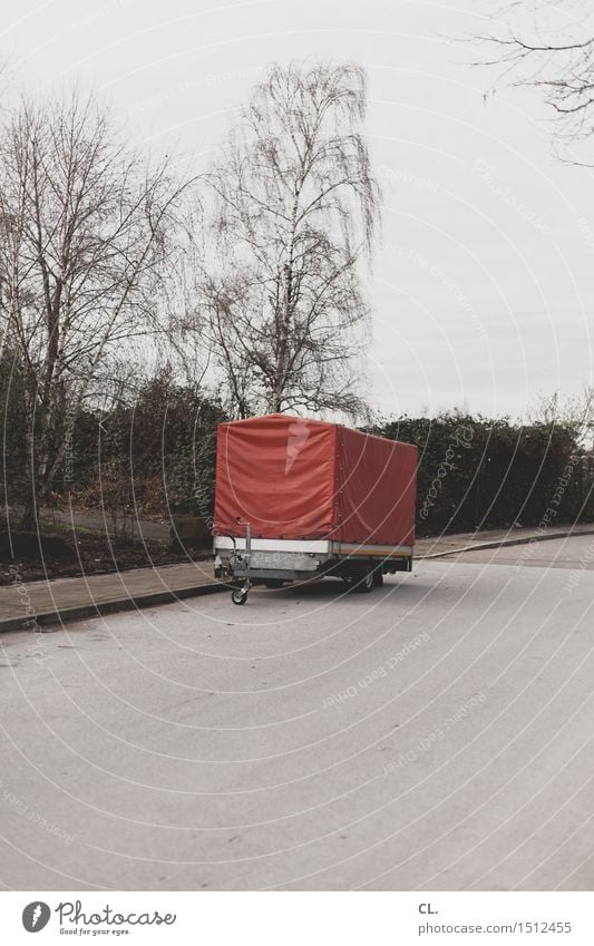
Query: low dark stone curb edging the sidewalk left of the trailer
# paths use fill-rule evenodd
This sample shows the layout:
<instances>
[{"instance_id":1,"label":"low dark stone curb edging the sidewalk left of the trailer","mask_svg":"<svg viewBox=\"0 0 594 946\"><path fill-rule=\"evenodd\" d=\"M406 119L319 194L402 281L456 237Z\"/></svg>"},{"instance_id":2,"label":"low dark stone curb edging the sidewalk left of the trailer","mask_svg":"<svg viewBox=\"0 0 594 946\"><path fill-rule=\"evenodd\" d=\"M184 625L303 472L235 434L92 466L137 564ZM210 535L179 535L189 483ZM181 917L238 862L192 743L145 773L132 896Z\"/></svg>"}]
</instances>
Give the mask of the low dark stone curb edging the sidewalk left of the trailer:
<instances>
[{"instance_id":1,"label":"low dark stone curb edging the sidewalk left of the trailer","mask_svg":"<svg viewBox=\"0 0 594 946\"><path fill-rule=\"evenodd\" d=\"M113 598L111 601L96 602L95 604L76 604L71 607L58 607L52 611L40 611L37 614L19 617L6 617L0 620L0 634L10 631L31 630L31 622L47 626L51 624L64 624L67 621L81 621L85 617L99 617L101 614L115 614L118 611L139 611L157 604L173 604L183 598L211 595L217 592L228 591L228 585L223 582L214 582L207 585L188 585L176 591L150 592L144 595L132 595L126 598Z\"/></svg>"}]
</instances>

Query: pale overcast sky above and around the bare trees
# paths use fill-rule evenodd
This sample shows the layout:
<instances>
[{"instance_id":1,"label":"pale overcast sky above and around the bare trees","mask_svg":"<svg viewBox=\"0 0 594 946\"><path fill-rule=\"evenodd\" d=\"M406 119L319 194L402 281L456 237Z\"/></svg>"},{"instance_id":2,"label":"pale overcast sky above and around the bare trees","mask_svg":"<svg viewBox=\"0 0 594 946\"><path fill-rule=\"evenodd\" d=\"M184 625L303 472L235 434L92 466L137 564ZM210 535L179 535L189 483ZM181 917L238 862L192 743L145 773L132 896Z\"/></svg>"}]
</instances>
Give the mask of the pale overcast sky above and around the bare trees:
<instances>
[{"instance_id":1,"label":"pale overcast sky above and around the bare trees","mask_svg":"<svg viewBox=\"0 0 594 946\"><path fill-rule=\"evenodd\" d=\"M384 189L370 399L388 413L520 416L593 381L592 170L561 165L535 94L470 68L449 38L488 0L4 0L0 53L29 90L76 80L130 139L204 169L272 60L356 59ZM594 142L593 142L594 152Z\"/></svg>"}]
</instances>

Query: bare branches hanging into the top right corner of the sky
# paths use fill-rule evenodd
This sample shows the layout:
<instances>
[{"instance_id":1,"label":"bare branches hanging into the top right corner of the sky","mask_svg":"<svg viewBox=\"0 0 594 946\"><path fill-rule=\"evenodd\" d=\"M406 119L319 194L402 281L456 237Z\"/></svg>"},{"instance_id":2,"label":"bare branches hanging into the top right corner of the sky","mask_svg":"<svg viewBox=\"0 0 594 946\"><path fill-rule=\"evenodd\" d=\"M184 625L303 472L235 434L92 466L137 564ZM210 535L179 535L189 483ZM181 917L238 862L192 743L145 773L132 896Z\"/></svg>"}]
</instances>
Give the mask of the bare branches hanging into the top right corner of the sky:
<instances>
[{"instance_id":1,"label":"bare branches hanging into the top right corner of the sky","mask_svg":"<svg viewBox=\"0 0 594 946\"><path fill-rule=\"evenodd\" d=\"M493 29L477 39L495 55L476 65L496 66L499 78L543 94L558 118L555 138L559 144L573 146L590 138L594 131L594 20L583 0L497 4ZM575 153L564 157L576 160Z\"/></svg>"}]
</instances>

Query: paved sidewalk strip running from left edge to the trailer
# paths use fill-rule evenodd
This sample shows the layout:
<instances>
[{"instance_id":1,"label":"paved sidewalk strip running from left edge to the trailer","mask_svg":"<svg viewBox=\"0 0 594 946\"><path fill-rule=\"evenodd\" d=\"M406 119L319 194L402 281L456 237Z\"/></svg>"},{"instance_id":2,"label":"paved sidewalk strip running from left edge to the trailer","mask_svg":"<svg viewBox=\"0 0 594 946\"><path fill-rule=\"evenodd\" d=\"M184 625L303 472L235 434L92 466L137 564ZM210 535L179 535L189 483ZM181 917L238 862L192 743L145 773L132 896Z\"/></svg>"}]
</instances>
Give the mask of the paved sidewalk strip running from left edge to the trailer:
<instances>
[{"instance_id":1,"label":"paved sidewalk strip running from left edge to the trailer","mask_svg":"<svg viewBox=\"0 0 594 946\"><path fill-rule=\"evenodd\" d=\"M17 576L18 577L18 576ZM108 575L19 582L0 587L0 633L133 611L225 589L212 562L133 568Z\"/></svg>"}]
</instances>

